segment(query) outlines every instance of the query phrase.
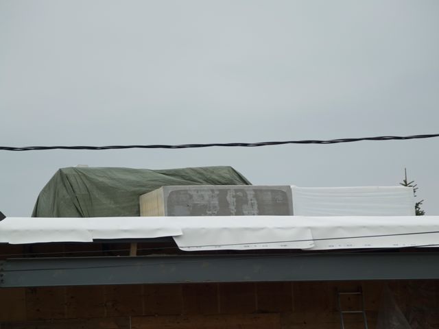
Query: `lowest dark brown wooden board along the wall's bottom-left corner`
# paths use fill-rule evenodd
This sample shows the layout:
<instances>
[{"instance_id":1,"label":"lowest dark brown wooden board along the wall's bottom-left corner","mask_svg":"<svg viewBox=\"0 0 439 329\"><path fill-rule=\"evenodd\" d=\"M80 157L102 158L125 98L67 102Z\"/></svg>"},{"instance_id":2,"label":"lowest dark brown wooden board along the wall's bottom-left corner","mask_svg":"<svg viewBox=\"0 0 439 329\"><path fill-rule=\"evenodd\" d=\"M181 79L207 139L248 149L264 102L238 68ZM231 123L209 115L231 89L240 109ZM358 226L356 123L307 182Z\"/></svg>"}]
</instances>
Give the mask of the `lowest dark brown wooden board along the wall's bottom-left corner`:
<instances>
[{"instance_id":1,"label":"lowest dark brown wooden board along the wall's bottom-left corner","mask_svg":"<svg viewBox=\"0 0 439 329\"><path fill-rule=\"evenodd\" d=\"M58 319L2 323L1 329L130 329L130 319Z\"/></svg>"}]
</instances>

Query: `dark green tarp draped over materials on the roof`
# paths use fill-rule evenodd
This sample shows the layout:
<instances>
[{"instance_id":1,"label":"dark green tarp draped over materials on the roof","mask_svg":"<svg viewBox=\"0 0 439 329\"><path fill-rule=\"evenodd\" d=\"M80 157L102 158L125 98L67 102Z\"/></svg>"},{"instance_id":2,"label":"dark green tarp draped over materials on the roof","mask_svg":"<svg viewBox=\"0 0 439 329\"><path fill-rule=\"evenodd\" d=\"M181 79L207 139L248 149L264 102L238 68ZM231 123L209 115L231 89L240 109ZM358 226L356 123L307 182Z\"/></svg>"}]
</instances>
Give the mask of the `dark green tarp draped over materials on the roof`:
<instances>
[{"instance_id":1,"label":"dark green tarp draped over materials on the roof","mask_svg":"<svg viewBox=\"0 0 439 329\"><path fill-rule=\"evenodd\" d=\"M139 216L139 196L169 185L250 185L232 167L59 169L38 195L32 217Z\"/></svg>"}]
</instances>

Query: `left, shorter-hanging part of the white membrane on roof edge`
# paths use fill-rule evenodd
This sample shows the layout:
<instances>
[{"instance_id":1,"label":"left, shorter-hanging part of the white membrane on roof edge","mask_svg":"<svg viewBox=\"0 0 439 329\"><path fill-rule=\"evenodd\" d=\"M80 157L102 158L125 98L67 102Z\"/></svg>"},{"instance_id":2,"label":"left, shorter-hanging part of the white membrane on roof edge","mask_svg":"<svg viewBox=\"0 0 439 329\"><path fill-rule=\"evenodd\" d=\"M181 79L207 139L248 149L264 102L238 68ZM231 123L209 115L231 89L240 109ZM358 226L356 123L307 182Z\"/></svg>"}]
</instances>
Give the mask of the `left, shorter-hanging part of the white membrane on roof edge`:
<instances>
[{"instance_id":1,"label":"left, shorter-hanging part of the white membrane on roof edge","mask_svg":"<svg viewBox=\"0 0 439 329\"><path fill-rule=\"evenodd\" d=\"M6 217L0 243L92 242L93 239L142 239L177 236L180 228L158 217L44 218Z\"/></svg>"}]
</instances>

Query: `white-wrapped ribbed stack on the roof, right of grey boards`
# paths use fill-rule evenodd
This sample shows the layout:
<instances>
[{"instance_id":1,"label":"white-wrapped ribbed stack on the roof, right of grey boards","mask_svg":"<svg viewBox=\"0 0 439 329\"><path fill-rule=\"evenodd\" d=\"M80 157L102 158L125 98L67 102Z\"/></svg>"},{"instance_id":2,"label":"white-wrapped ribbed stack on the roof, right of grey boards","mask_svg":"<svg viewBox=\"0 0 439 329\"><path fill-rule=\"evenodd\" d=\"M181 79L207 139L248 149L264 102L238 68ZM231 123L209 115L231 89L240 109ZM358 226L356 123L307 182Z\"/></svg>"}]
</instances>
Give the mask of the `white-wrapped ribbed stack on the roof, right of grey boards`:
<instances>
[{"instance_id":1,"label":"white-wrapped ribbed stack on the roof, right of grey boards","mask_svg":"<svg viewBox=\"0 0 439 329\"><path fill-rule=\"evenodd\" d=\"M414 216L413 188L292 186L293 213L300 216Z\"/></svg>"}]
</instances>

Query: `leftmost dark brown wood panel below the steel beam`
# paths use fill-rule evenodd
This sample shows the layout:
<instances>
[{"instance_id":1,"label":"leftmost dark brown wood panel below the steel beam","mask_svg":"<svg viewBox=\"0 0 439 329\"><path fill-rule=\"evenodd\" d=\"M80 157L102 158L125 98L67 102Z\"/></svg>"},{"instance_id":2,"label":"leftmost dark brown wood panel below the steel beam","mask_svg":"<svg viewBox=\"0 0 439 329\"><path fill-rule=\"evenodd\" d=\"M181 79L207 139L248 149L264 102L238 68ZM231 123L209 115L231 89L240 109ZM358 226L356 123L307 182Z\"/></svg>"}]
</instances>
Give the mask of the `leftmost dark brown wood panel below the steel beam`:
<instances>
[{"instance_id":1,"label":"leftmost dark brown wood panel below the steel beam","mask_svg":"<svg viewBox=\"0 0 439 329\"><path fill-rule=\"evenodd\" d=\"M25 288L1 288L0 321L20 321L25 319Z\"/></svg>"}]
</instances>

